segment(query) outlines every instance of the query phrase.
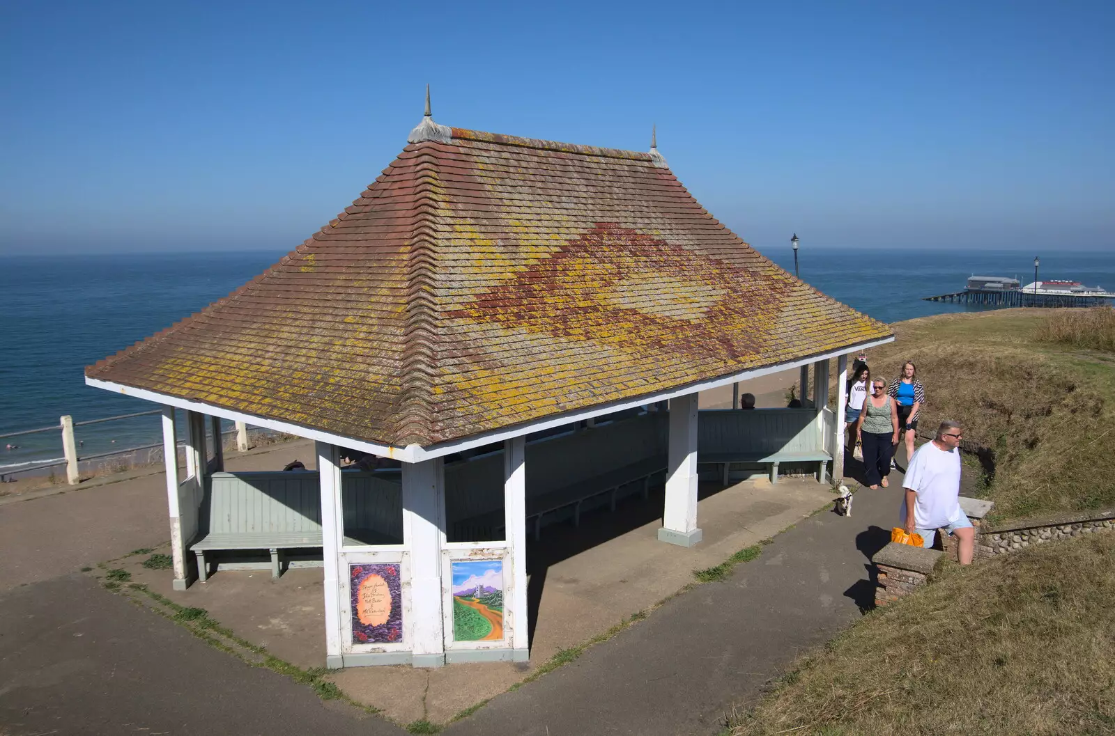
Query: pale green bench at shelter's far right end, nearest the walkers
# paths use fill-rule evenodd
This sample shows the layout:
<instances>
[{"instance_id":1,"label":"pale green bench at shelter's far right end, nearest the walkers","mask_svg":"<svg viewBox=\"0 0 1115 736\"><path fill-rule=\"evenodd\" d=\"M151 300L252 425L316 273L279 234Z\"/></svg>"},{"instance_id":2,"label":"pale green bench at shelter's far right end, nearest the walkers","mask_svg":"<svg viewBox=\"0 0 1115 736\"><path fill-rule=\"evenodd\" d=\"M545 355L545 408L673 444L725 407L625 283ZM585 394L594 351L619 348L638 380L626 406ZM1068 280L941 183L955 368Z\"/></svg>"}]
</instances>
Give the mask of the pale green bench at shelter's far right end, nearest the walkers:
<instances>
[{"instance_id":1,"label":"pale green bench at shelter's far right end, nearest the walkers","mask_svg":"<svg viewBox=\"0 0 1115 736\"><path fill-rule=\"evenodd\" d=\"M779 464L817 463L817 480L824 482L832 461L813 409L701 411L697 448L698 464L720 465L725 485L731 463L767 465L777 483Z\"/></svg>"}]
</instances>

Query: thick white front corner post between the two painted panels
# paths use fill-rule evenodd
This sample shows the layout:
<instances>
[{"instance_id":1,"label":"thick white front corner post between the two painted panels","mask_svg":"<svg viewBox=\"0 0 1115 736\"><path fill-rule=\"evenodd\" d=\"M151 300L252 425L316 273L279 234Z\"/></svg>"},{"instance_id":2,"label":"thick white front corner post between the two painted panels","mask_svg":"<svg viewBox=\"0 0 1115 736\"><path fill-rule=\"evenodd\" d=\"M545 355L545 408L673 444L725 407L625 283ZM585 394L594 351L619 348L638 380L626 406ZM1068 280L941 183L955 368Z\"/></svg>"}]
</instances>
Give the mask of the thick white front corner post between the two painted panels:
<instances>
[{"instance_id":1,"label":"thick white front corner post between the two painted panels","mask_svg":"<svg viewBox=\"0 0 1115 736\"><path fill-rule=\"evenodd\" d=\"M445 664L442 548L445 546L445 465L442 458L403 463L403 533L410 552L410 610L404 637L415 667Z\"/></svg>"}]
</instances>

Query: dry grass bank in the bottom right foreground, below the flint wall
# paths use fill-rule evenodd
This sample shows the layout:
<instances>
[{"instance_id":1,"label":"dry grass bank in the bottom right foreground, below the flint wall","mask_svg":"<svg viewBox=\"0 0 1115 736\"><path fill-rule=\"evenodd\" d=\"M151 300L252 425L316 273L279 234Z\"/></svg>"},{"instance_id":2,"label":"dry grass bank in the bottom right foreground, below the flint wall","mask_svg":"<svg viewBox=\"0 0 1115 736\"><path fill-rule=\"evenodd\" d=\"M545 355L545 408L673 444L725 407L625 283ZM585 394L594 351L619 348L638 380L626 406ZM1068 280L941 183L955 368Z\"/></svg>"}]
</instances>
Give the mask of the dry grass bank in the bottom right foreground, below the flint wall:
<instances>
[{"instance_id":1,"label":"dry grass bank in the bottom right foreground, below the flint wall","mask_svg":"<svg viewBox=\"0 0 1115 736\"><path fill-rule=\"evenodd\" d=\"M738 716L734 736L1115 733L1115 533L946 565Z\"/></svg>"}]
</instances>

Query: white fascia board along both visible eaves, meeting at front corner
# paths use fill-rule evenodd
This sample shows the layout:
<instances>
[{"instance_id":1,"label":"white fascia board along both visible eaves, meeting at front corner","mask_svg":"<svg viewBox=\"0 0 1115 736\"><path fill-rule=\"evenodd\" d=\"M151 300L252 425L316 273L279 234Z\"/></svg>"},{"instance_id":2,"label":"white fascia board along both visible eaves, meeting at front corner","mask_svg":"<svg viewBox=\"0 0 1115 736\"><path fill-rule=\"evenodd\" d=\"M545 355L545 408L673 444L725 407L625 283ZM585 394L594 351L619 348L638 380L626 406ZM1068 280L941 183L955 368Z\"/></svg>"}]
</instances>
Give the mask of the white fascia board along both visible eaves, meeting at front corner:
<instances>
[{"instance_id":1,"label":"white fascia board along both visible eaves, meeting at front corner","mask_svg":"<svg viewBox=\"0 0 1115 736\"><path fill-rule=\"evenodd\" d=\"M319 442L329 442L330 444L339 444L343 448L351 448L353 450L362 450L365 452L370 452L372 454L380 455L384 458L392 458L395 460L401 460L403 462L421 462L424 460L433 460L434 458L443 458L445 455L453 454L454 452L462 452L464 450L479 448L485 444L491 444L493 442L510 440L521 434L530 434L531 432L541 432L543 430L553 429L554 426L561 426L563 424L572 424L573 422L579 422L586 419L593 419L595 416L602 416L604 414L611 414L613 412L623 411L624 409L634 409L636 406L652 404L658 401L666 401L669 399L676 399L677 396L685 396L687 394L696 393L699 391L707 391L709 389L716 389L719 386L729 385L731 383L736 383L737 381L747 381L750 379L757 379L763 375L769 375L770 373L780 373L782 371L788 371L791 369L795 369L802 365L808 365L809 363L816 363L817 361L830 360L838 355L845 355L847 353L863 351L870 347L876 347L879 345L885 345L886 343L892 343L892 342L894 342L894 337L884 337L883 340L875 340L867 343L847 345L838 350L830 351L827 353L818 353L816 355L811 355L808 357L803 357L796 361L776 363L774 365L766 365L759 369L741 371L740 373L734 373L731 375L720 376L718 379L710 379L708 381L701 381L699 383L690 383L679 389L671 389L669 391L658 391L655 393L642 394L633 399L624 399L622 401L613 401L608 404L600 404L597 406L592 406L590 409L582 409L573 412L555 414L553 416L547 416L536 422L531 422L530 424L518 424L516 426L511 426L503 430L495 430L492 432L487 432L485 434L474 434L472 436L462 440L445 442L443 444L434 444L428 448L423 448L417 444L408 444L406 448L395 448L388 444L377 444L375 442L356 440L352 438L341 436L339 434L330 434L329 432L322 432L321 430L310 429L308 426L302 426L301 424L292 424L290 422L283 422L274 419L266 419L264 416L256 416L254 414L245 414L243 412L225 409L223 406L214 406L212 404L203 404L196 401L178 399L176 396L169 396L166 394L157 393L155 391L147 391L146 389L133 389L132 386L126 386L119 383L113 383L110 381L100 381L98 379L90 379L88 376L86 376L85 383L86 385L90 385L96 389L105 389L106 391L113 391L115 393L122 393L127 396L135 396L137 399L144 399L146 401L154 401L156 403L164 404L167 406L175 406L177 409L186 409L190 411L202 412L211 416L220 416L222 419L227 419L235 422L246 422L254 426L262 426L264 429L274 430L277 432L285 432L288 434L294 434L298 436L307 438L309 440L317 440Z\"/></svg>"}]
</instances>

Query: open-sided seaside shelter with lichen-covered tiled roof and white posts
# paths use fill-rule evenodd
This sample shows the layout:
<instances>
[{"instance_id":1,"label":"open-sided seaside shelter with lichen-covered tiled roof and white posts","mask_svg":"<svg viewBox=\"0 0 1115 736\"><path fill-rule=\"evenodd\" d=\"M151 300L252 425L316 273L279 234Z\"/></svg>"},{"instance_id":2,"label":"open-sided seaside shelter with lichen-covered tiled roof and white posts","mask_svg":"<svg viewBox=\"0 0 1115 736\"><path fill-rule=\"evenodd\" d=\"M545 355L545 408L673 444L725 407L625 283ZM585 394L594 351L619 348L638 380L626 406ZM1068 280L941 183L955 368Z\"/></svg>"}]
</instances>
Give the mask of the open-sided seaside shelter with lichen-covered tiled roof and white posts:
<instances>
[{"instance_id":1,"label":"open-sided seaside shelter with lichen-covered tiled roof and white posts","mask_svg":"<svg viewBox=\"0 0 1115 736\"><path fill-rule=\"evenodd\" d=\"M164 406L176 588L222 551L270 553L278 575L280 555L321 548L327 664L437 666L527 657L527 519L535 533L562 508L575 521L600 493L614 508L617 489L646 492L662 472L659 539L700 541L699 391L813 364L812 409L702 416L719 422L708 441L730 445L708 461L726 479L734 460L820 461L823 478L832 459L840 475L828 360L843 381L849 353L891 340L717 222L653 143L448 128L427 98L408 145L336 219L86 383ZM666 400L668 418L640 409ZM224 473L206 416L313 439L318 472ZM813 444L791 448L802 438ZM342 449L401 470L342 471ZM486 624L463 626L469 611Z\"/></svg>"}]
</instances>

